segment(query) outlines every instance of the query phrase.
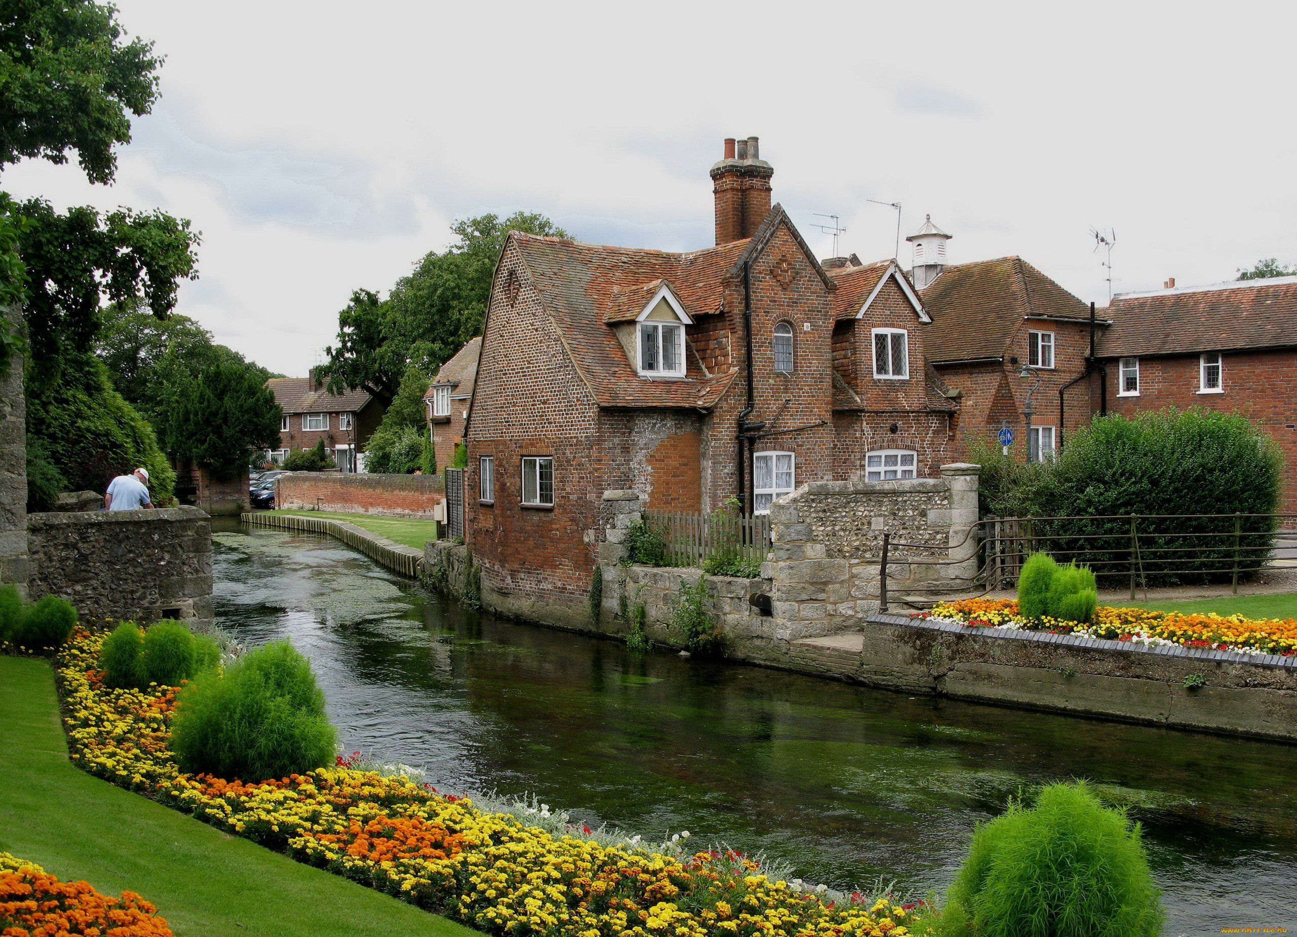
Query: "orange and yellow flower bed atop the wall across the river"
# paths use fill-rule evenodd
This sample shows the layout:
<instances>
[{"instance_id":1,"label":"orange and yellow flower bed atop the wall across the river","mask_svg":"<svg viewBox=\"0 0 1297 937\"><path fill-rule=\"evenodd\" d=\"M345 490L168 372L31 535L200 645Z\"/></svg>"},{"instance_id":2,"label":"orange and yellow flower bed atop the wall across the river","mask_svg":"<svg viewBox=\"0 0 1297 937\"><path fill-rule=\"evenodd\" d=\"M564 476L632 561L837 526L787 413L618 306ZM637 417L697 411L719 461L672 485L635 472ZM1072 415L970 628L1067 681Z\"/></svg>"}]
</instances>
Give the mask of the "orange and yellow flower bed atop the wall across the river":
<instances>
[{"instance_id":1,"label":"orange and yellow flower bed atop the wall across the river","mask_svg":"<svg viewBox=\"0 0 1297 937\"><path fill-rule=\"evenodd\" d=\"M916 616L917 617L917 616ZM1183 614L1144 608L1100 605L1088 625L1054 618L1026 619L1013 599L960 599L933 607L931 614L960 625L1025 629L1141 644L1236 651L1245 654L1297 656L1297 618L1244 618L1239 614Z\"/></svg>"}]
</instances>

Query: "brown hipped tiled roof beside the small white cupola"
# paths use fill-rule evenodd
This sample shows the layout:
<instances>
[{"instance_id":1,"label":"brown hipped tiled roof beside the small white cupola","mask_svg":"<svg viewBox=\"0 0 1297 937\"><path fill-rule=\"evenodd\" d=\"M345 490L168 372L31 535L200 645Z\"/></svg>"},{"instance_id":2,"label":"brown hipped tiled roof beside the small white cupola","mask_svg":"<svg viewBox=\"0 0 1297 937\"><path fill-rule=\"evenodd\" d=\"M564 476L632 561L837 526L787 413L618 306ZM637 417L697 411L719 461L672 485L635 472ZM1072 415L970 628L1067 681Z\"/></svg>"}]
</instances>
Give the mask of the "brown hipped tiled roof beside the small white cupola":
<instances>
[{"instance_id":1,"label":"brown hipped tiled roof beside the small white cupola","mask_svg":"<svg viewBox=\"0 0 1297 937\"><path fill-rule=\"evenodd\" d=\"M1089 318L1089 306L1021 257L948 266L920 297L933 318L933 362L1001 356L1029 315Z\"/></svg>"}]
</instances>

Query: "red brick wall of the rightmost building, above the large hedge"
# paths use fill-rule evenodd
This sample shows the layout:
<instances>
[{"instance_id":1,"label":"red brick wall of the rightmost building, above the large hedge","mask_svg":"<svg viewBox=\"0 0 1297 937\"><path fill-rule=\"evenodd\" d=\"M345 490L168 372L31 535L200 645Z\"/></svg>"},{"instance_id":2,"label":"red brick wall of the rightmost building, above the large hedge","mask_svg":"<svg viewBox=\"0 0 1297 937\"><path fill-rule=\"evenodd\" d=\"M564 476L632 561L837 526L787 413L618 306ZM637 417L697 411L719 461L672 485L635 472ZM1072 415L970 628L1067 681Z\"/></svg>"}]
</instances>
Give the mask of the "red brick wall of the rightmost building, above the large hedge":
<instances>
[{"instance_id":1,"label":"red brick wall of the rightmost building, above the large hedge","mask_svg":"<svg viewBox=\"0 0 1297 937\"><path fill-rule=\"evenodd\" d=\"M1284 455L1279 511L1297 513L1297 351L1249 351L1220 355L1222 394L1200 394L1198 356L1141 358L1139 397L1118 397L1121 367L1108 365L1108 412L1134 416L1162 407L1206 407L1239 412L1259 421ZM1287 527L1297 526L1289 521Z\"/></svg>"}]
</instances>

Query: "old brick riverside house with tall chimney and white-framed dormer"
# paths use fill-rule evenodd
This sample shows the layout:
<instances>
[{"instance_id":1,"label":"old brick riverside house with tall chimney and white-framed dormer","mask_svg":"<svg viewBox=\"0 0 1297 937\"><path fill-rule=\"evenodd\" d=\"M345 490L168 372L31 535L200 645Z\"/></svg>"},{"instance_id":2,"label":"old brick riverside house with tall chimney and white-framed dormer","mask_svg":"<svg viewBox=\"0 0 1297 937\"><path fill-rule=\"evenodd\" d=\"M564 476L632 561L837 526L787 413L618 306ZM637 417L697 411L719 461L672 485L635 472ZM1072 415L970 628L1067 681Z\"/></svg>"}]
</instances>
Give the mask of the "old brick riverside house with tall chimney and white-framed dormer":
<instances>
[{"instance_id":1,"label":"old brick riverside house with tall chimney and white-framed dormer","mask_svg":"<svg viewBox=\"0 0 1297 937\"><path fill-rule=\"evenodd\" d=\"M585 619L606 490L761 513L809 481L949 461L958 403L925 367L918 292L892 260L821 264L772 176L755 137L725 141L704 250L508 236L464 430L494 607L543 595Z\"/></svg>"}]
</instances>

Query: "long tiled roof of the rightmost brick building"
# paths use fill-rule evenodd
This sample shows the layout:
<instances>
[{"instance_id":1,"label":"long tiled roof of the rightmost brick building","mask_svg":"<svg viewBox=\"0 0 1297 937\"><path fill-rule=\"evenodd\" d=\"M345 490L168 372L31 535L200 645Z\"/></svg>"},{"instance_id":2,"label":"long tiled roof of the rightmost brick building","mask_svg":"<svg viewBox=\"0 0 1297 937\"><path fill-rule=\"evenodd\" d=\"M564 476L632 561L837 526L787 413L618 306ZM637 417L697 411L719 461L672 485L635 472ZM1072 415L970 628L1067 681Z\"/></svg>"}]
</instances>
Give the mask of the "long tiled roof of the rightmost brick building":
<instances>
[{"instance_id":1,"label":"long tiled roof of the rightmost brick building","mask_svg":"<svg viewBox=\"0 0 1297 937\"><path fill-rule=\"evenodd\" d=\"M1118 293L1105 358L1297 346L1297 276Z\"/></svg>"}]
</instances>

